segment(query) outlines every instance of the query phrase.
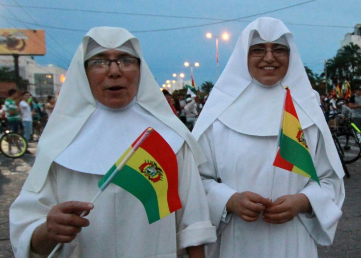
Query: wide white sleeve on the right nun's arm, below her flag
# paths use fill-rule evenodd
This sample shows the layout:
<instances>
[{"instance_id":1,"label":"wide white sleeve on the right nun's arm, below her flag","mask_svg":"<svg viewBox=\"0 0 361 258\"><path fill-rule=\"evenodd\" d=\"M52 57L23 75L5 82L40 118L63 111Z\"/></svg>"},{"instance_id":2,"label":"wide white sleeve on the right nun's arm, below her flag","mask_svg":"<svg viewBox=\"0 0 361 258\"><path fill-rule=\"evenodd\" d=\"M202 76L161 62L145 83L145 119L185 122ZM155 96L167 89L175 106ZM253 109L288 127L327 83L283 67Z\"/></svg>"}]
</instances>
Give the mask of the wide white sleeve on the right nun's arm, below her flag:
<instances>
[{"instance_id":1,"label":"wide white sleeve on the right nun's arm, below her flag","mask_svg":"<svg viewBox=\"0 0 361 258\"><path fill-rule=\"evenodd\" d=\"M312 206L312 216L299 213L309 234L320 245L332 244L341 207L345 199L343 179L339 179L326 155L323 138L318 132L317 145L313 158L314 166L321 184L310 180L301 193L305 194ZM308 141L309 142L309 141Z\"/></svg>"}]
</instances>

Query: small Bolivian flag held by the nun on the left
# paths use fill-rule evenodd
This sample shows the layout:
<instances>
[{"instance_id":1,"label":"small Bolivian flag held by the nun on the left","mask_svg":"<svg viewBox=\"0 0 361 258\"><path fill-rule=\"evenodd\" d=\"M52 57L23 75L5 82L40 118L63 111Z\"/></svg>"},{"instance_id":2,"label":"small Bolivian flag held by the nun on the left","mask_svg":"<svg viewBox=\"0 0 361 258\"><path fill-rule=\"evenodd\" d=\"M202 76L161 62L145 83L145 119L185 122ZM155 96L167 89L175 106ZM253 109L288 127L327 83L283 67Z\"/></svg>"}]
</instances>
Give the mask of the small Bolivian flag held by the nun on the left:
<instances>
[{"instance_id":1,"label":"small Bolivian flag held by the nun on the left","mask_svg":"<svg viewBox=\"0 0 361 258\"><path fill-rule=\"evenodd\" d=\"M151 133L137 146L149 130ZM117 167L129 154L128 161L117 171ZM181 208L176 155L154 129L146 129L98 182L102 191L112 174L111 182L134 195L143 204L149 224Z\"/></svg>"}]
</instances>

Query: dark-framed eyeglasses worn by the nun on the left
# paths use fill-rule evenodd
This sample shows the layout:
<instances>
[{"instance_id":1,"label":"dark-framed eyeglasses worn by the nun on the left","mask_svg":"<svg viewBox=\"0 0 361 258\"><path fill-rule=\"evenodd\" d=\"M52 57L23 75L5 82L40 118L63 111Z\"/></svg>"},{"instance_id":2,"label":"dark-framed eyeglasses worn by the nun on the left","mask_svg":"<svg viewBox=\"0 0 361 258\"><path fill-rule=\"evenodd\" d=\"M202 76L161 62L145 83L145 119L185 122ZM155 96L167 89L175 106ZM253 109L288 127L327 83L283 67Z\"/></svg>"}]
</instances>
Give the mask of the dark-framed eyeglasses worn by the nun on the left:
<instances>
[{"instance_id":1,"label":"dark-framed eyeglasses worn by the nun on the left","mask_svg":"<svg viewBox=\"0 0 361 258\"><path fill-rule=\"evenodd\" d=\"M84 62L85 67L107 72L112 62L115 62L123 71L133 71L140 64L135 56L124 56L117 59L90 59Z\"/></svg>"}]
</instances>

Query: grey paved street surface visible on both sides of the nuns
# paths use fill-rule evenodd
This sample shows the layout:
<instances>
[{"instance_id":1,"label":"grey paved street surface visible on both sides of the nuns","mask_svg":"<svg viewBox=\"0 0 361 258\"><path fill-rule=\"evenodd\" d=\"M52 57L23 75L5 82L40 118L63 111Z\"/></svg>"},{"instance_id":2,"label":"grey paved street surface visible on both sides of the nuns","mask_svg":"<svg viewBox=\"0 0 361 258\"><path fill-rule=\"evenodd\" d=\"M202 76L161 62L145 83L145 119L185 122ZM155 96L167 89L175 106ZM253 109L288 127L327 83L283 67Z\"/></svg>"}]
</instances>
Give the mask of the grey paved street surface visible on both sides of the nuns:
<instances>
[{"instance_id":1,"label":"grey paved street surface visible on both sides of the nuns","mask_svg":"<svg viewBox=\"0 0 361 258\"><path fill-rule=\"evenodd\" d=\"M36 143L30 143L35 153ZM15 200L35 155L10 159L0 155L0 258L12 258L9 240L9 207ZM345 178L346 200L338 223L335 240L329 247L319 247L319 258L361 257L361 160L347 166L351 177Z\"/></svg>"}]
</instances>

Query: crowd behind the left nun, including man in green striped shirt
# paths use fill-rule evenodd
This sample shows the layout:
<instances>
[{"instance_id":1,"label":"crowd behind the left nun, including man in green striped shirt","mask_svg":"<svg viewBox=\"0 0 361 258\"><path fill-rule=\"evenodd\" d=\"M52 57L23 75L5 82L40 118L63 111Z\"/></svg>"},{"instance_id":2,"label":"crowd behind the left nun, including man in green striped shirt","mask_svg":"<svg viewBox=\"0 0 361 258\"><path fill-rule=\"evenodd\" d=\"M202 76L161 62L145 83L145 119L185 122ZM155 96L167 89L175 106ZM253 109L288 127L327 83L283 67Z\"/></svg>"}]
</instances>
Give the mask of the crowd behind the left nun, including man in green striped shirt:
<instances>
[{"instance_id":1,"label":"crowd behind the left nun, including man in green striped shirt","mask_svg":"<svg viewBox=\"0 0 361 258\"><path fill-rule=\"evenodd\" d=\"M23 134L26 141L33 140L33 128L40 131L51 115L55 98L48 96L47 102L39 103L29 92L9 89L7 98L0 109L1 119L5 119L9 129Z\"/></svg>"}]
</instances>

